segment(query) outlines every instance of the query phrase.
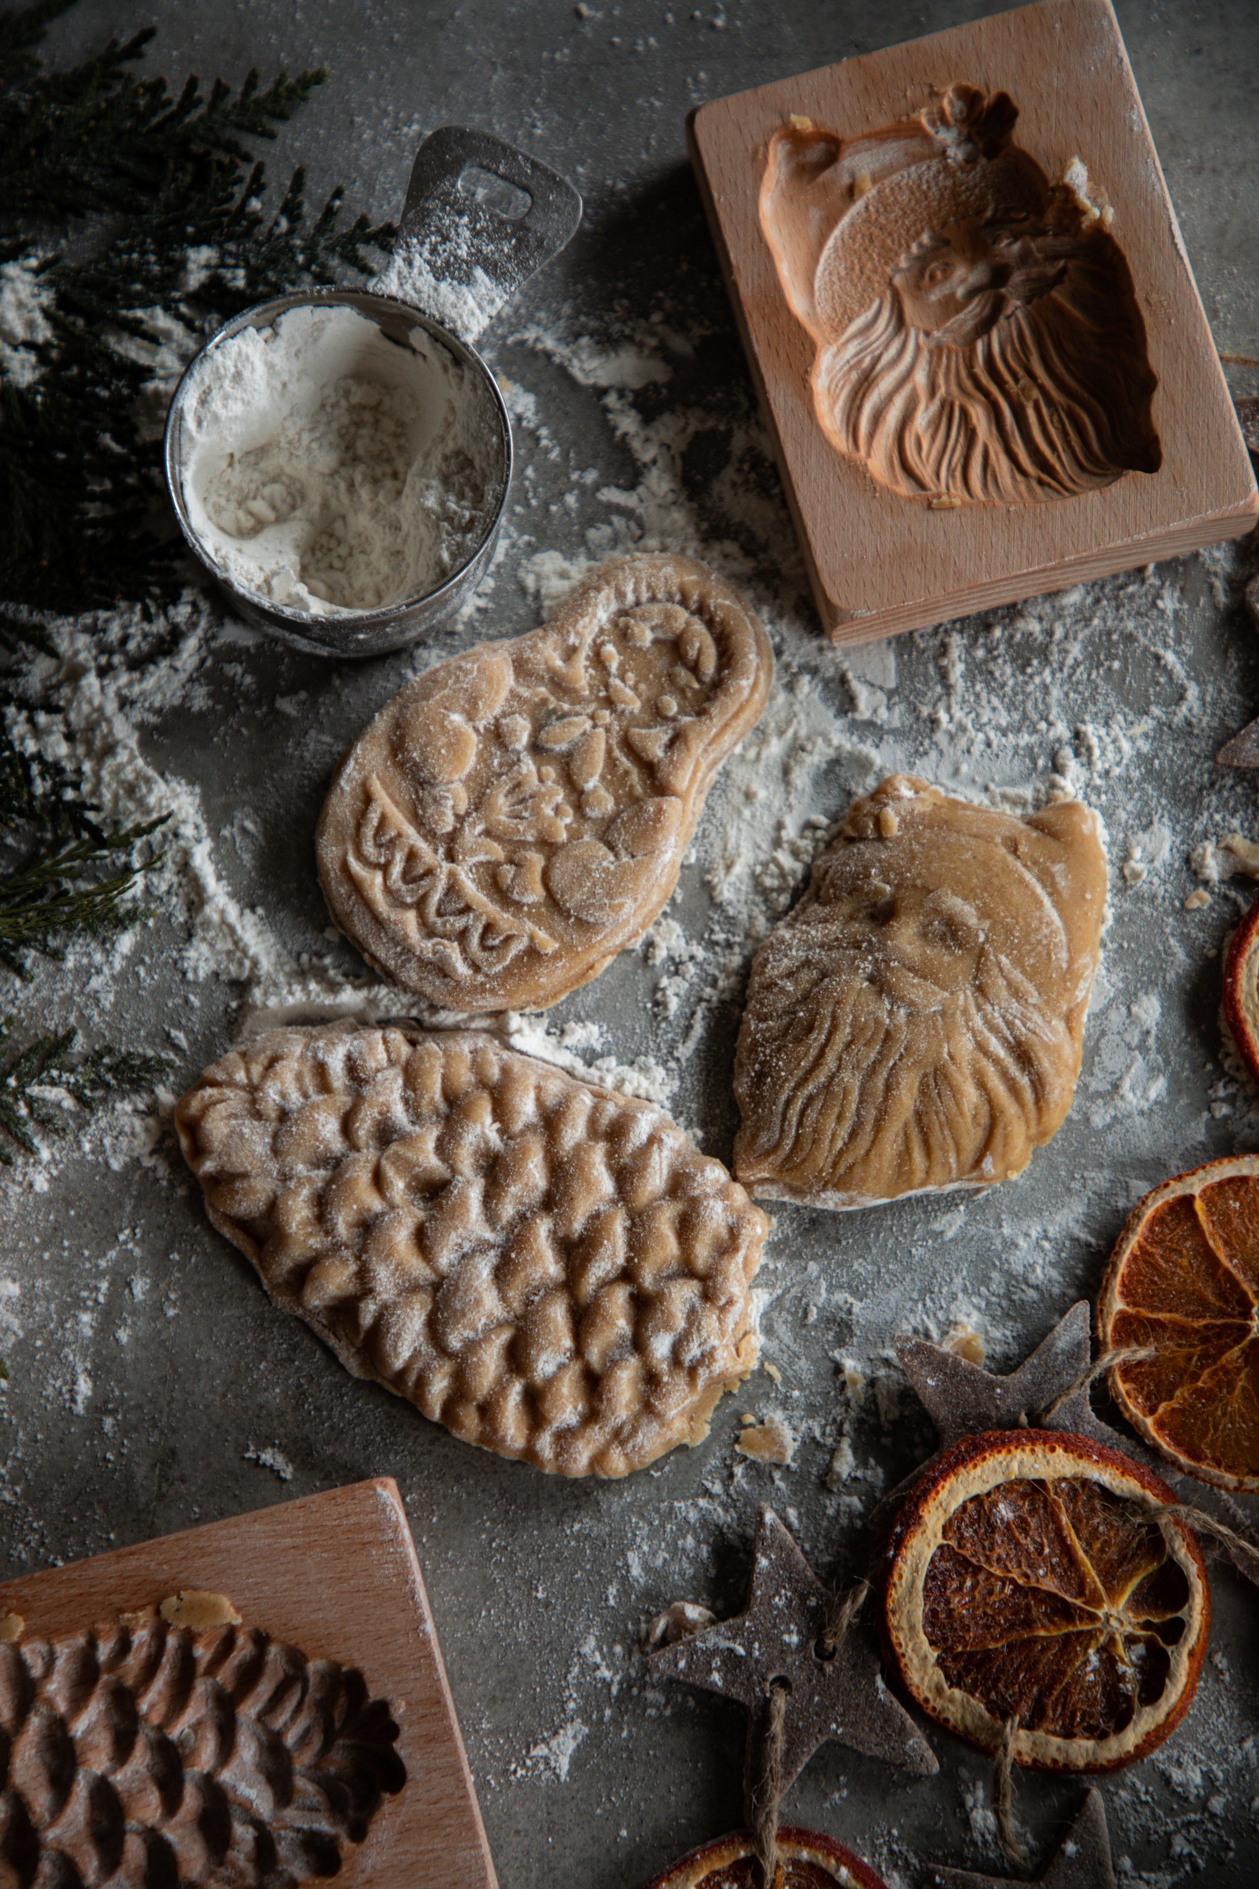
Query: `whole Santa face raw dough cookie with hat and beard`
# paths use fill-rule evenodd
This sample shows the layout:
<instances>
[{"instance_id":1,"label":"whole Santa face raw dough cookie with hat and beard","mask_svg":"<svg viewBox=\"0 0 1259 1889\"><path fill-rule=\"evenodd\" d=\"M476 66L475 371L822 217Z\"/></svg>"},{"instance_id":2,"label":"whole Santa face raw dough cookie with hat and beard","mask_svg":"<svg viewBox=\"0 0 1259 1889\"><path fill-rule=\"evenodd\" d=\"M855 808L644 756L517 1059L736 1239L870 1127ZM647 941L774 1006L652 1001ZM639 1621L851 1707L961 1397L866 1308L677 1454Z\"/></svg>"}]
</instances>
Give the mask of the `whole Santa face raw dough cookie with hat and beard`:
<instances>
[{"instance_id":1,"label":"whole Santa face raw dough cookie with hat and beard","mask_svg":"<svg viewBox=\"0 0 1259 1889\"><path fill-rule=\"evenodd\" d=\"M815 1207L1021 1173L1070 1107L1104 903L1076 801L1016 820L904 774L853 801L751 967L734 1173Z\"/></svg>"}]
</instances>

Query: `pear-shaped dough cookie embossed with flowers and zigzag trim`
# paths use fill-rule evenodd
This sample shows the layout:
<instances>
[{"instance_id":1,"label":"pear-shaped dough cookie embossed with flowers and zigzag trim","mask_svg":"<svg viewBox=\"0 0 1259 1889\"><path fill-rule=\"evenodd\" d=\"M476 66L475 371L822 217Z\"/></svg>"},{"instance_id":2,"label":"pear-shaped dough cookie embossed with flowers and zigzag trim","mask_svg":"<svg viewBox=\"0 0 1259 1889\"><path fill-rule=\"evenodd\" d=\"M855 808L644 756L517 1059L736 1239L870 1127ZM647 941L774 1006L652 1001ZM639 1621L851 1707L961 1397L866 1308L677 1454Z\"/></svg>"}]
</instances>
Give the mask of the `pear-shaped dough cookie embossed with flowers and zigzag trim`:
<instances>
[{"instance_id":1,"label":"pear-shaped dough cookie embossed with flowers and zigzag trim","mask_svg":"<svg viewBox=\"0 0 1259 1889\"><path fill-rule=\"evenodd\" d=\"M704 565L608 565L532 635L428 669L359 737L319 822L336 924L442 1009L546 1009L661 910L772 672Z\"/></svg>"}]
</instances>

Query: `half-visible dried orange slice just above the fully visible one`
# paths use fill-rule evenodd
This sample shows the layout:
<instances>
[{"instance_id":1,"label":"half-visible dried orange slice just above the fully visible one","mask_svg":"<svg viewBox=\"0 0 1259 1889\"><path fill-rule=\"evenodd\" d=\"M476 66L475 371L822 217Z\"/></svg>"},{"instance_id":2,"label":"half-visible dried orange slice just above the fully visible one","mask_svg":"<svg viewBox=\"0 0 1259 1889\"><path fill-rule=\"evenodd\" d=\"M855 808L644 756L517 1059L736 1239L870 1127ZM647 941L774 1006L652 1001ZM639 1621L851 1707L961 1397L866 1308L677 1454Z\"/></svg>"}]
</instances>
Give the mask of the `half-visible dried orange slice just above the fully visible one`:
<instances>
[{"instance_id":1,"label":"half-visible dried orange slice just above the fully visible one","mask_svg":"<svg viewBox=\"0 0 1259 1889\"><path fill-rule=\"evenodd\" d=\"M1259 1154L1165 1181L1129 1215L1097 1302L1110 1373L1146 1441L1217 1489L1259 1489Z\"/></svg>"}]
</instances>

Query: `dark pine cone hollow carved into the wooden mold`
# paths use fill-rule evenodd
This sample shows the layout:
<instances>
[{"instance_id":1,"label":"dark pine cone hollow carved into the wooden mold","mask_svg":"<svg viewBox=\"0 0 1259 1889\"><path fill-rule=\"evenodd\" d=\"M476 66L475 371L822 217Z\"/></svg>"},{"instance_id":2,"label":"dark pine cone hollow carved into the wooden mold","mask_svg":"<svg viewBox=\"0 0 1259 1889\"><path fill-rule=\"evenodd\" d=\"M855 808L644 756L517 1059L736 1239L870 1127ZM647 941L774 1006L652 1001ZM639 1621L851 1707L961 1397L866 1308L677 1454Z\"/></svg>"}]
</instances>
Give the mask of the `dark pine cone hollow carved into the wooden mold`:
<instances>
[{"instance_id":1,"label":"dark pine cone hollow carved into the wooden mold","mask_svg":"<svg viewBox=\"0 0 1259 1889\"><path fill-rule=\"evenodd\" d=\"M353 1666L159 1609L0 1645L0 1736L13 1889L296 1889L406 1783Z\"/></svg>"}]
</instances>

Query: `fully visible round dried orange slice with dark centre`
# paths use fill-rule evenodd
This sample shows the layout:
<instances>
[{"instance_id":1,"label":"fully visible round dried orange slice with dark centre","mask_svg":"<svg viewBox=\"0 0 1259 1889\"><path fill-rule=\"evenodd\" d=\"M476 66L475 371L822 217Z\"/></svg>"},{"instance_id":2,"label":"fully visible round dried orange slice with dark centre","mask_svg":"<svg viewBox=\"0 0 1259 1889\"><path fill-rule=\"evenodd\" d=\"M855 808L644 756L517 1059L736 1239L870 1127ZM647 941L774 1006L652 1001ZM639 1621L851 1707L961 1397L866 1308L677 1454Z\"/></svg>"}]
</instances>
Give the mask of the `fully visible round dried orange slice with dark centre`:
<instances>
[{"instance_id":1,"label":"fully visible round dried orange slice with dark centre","mask_svg":"<svg viewBox=\"0 0 1259 1889\"><path fill-rule=\"evenodd\" d=\"M887 1549L883 1634L936 1723L1036 1770L1117 1770L1199 1681L1210 1594L1167 1483L1061 1430L965 1436L923 1473Z\"/></svg>"}]
</instances>

